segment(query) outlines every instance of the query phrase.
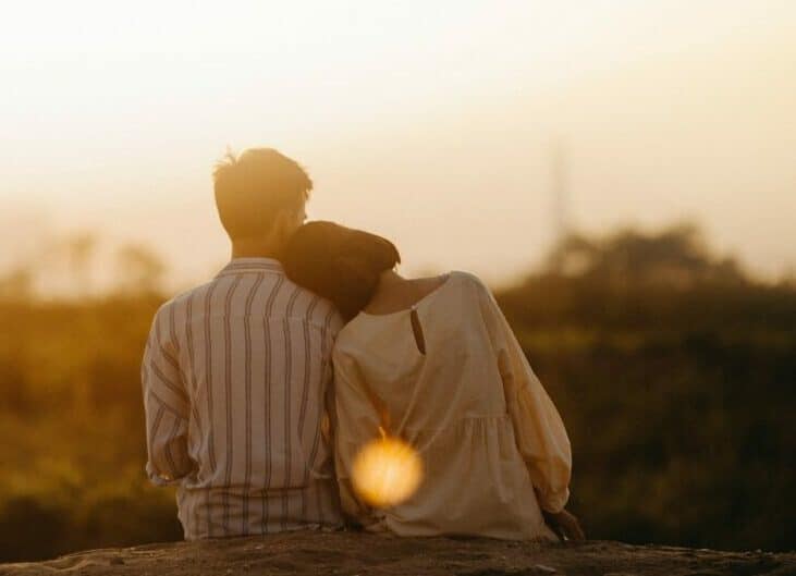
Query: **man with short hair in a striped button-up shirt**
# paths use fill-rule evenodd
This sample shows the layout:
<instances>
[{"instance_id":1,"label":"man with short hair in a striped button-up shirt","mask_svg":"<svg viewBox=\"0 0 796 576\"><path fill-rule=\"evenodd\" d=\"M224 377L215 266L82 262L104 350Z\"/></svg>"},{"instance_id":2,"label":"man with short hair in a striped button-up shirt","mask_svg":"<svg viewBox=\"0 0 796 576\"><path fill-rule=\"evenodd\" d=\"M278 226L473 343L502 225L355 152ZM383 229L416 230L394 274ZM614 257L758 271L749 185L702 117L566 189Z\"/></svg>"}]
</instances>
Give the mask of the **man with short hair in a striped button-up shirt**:
<instances>
[{"instance_id":1,"label":"man with short hair in a striped button-up shirt","mask_svg":"<svg viewBox=\"0 0 796 576\"><path fill-rule=\"evenodd\" d=\"M343 322L279 261L313 183L268 148L228 155L213 176L232 260L152 322L147 474L179 487L187 540L336 526L324 397Z\"/></svg>"}]
</instances>

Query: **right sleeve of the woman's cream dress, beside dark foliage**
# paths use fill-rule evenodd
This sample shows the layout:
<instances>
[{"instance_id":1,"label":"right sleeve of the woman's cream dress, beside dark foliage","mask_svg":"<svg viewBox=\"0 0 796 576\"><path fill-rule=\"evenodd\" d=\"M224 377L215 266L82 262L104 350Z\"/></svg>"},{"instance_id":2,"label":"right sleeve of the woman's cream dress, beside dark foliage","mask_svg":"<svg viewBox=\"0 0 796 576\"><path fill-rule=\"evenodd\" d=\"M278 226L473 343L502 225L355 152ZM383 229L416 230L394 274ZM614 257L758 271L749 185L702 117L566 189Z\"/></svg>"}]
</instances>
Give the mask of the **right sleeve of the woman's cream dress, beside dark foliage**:
<instances>
[{"instance_id":1,"label":"right sleeve of the woman's cream dress, beside dark foliage","mask_svg":"<svg viewBox=\"0 0 796 576\"><path fill-rule=\"evenodd\" d=\"M486 286L480 287L481 312L498 357L517 448L539 505L547 512L560 512L570 499L572 475L566 428L494 297Z\"/></svg>"}]
</instances>

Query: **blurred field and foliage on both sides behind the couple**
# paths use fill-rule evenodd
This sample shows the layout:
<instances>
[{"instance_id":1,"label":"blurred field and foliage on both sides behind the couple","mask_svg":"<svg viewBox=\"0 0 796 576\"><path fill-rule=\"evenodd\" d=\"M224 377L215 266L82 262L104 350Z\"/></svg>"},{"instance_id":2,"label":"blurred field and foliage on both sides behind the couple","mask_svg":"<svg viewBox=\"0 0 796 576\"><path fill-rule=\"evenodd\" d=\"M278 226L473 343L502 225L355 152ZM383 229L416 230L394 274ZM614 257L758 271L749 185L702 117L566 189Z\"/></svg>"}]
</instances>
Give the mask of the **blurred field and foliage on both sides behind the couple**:
<instances>
[{"instance_id":1,"label":"blurred field and foliage on both sides behind the couple","mask_svg":"<svg viewBox=\"0 0 796 576\"><path fill-rule=\"evenodd\" d=\"M151 256L112 296L0 299L2 561L182 538L143 471ZM573 236L497 297L566 421L590 537L796 548L793 282L677 225Z\"/></svg>"}]
</instances>

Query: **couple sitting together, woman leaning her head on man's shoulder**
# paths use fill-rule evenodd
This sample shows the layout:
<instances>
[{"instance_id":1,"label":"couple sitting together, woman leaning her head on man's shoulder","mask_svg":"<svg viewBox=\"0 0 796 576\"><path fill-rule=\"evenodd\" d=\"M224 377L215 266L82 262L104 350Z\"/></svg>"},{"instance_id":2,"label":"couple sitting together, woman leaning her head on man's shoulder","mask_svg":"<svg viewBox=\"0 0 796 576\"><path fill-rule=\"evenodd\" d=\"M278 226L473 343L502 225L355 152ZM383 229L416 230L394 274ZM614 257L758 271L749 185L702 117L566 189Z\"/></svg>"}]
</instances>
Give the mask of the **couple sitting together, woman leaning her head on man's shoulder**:
<instances>
[{"instance_id":1,"label":"couple sitting together, woman leaning her head on man's shoulder","mask_svg":"<svg viewBox=\"0 0 796 576\"><path fill-rule=\"evenodd\" d=\"M152 322L147 474L177 487L185 538L581 539L566 430L489 290L467 272L403 278L389 241L304 223L311 188L273 149L229 156L215 192L232 258ZM385 420L424 476L376 507L352 468Z\"/></svg>"}]
</instances>

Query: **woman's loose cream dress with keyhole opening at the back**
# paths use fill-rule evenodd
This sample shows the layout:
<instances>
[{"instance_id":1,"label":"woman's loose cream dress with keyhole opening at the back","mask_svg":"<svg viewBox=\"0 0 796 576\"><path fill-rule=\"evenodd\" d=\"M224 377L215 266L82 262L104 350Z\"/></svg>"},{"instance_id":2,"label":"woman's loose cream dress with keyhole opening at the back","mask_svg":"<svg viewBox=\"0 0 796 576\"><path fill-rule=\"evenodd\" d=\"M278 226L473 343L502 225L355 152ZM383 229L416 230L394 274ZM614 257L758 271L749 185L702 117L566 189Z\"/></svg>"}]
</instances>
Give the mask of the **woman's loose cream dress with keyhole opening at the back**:
<instances>
[{"instance_id":1,"label":"woman's loose cream dress with keyhole opening at the back","mask_svg":"<svg viewBox=\"0 0 796 576\"><path fill-rule=\"evenodd\" d=\"M335 468L346 514L400 536L555 539L540 506L559 512L566 504L570 440L480 280L451 272L412 309L360 312L338 335L332 357ZM354 457L378 437L368 390L425 468L417 492L389 510L368 507L351 482Z\"/></svg>"}]
</instances>

